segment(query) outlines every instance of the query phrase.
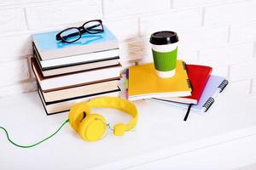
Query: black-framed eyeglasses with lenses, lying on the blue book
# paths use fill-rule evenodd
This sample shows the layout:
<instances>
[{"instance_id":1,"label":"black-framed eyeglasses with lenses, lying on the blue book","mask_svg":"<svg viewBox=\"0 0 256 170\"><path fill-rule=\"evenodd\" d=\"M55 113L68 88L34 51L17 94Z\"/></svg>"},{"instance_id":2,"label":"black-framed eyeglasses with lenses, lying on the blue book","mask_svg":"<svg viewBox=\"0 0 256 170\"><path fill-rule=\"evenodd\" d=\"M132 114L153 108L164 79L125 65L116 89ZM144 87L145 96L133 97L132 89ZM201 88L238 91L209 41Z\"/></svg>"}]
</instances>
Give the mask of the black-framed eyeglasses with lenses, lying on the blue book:
<instances>
[{"instance_id":1,"label":"black-framed eyeglasses with lenses, lying on the blue book","mask_svg":"<svg viewBox=\"0 0 256 170\"><path fill-rule=\"evenodd\" d=\"M89 34L97 34L104 31L102 26L102 20L90 20L85 22L83 26L79 27L70 27L56 35L56 40L61 42L72 43L78 41L82 34L89 33Z\"/></svg>"}]
</instances>

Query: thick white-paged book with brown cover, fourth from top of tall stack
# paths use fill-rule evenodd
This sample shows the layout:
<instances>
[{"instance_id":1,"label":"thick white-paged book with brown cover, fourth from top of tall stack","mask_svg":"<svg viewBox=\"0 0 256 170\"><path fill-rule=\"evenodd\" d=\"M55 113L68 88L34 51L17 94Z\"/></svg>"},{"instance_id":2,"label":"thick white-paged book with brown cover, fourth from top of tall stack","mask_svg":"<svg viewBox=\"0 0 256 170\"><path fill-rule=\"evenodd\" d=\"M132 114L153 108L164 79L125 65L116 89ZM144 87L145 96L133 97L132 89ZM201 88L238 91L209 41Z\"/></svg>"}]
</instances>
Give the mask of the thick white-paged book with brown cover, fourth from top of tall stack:
<instances>
[{"instance_id":1,"label":"thick white-paged book with brown cover, fourth from top of tall stack","mask_svg":"<svg viewBox=\"0 0 256 170\"><path fill-rule=\"evenodd\" d=\"M83 84L105 82L109 79L120 77L120 69L121 65L117 65L54 77L44 77L36 59L32 58L32 71L34 71L42 91L53 91L57 88L71 88Z\"/></svg>"}]
</instances>

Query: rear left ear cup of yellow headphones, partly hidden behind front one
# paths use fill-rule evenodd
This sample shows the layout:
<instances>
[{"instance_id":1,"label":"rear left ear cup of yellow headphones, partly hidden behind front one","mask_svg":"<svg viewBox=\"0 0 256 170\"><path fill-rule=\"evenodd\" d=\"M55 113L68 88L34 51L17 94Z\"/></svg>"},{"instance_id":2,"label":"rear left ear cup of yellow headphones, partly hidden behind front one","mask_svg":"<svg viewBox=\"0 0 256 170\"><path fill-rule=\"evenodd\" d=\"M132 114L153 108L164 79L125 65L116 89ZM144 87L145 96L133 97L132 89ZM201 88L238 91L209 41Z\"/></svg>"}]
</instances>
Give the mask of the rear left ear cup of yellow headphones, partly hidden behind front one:
<instances>
[{"instance_id":1,"label":"rear left ear cup of yellow headphones, partly hidden behind front one","mask_svg":"<svg viewBox=\"0 0 256 170\"><path fill-rule=\"evenodd\" d=\"M83 121L84 116L86 118L88 115L90 115L90 107L89 105L87 105L86 102L82 102L77 105L74 105L68 114L70 126L73 127L73 129L76 132L78 132L80 122Z\"/></svg>"}]
</instances>

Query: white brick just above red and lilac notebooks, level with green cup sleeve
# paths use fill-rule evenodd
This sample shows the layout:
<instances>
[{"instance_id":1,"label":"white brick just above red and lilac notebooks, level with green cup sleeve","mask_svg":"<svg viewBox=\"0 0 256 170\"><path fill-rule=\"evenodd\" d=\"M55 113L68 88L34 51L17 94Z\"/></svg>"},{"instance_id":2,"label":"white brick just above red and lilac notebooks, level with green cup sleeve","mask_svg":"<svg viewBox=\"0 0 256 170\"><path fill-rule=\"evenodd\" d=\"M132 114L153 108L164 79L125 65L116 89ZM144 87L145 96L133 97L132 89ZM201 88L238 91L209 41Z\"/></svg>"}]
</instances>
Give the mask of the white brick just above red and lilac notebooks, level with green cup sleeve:
<instances>
[{"instance_id":1,"label":"white brick just above red and lilac notebooks, level with green cup sleeve","mask_svg":"<svg viewBox=\"0 0 256 170\"><path fill-rule=\"evenodd\" d=\"M210 48L200 51L200 63L204 65L238 64L253 58L253 42Z\"/></svg>"}]
</instances>

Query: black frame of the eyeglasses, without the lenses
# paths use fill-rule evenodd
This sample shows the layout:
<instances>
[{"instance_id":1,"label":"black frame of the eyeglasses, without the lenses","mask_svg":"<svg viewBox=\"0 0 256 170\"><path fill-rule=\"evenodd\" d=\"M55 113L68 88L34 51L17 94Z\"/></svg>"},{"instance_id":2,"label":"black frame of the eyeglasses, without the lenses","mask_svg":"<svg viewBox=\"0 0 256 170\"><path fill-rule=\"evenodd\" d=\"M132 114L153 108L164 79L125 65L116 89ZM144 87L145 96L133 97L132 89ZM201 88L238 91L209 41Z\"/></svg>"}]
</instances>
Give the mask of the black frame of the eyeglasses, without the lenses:
<instances>
[{"instance_id":1,"label":"black frame of the eyeglasses, without the lenses","mask_svg":"<svg viewBox=\"0 0 256 170\"><path fill-rule=\"evenodd\" d=\"M98 22L101 24L102 30L96 31L96 32L90 32L89 30L87 30L86 28L84 28L84 26L85 26L86 24L88 24L88 23L90 23L90 22L95 22L95 21L98 21ZM71 30L71 29L77 29L78 32L72 33L72 34L68 35L67 37L79 36L79 38L76 39L76 40L73 40L73 41L69 42L69 41L65 40L63 37L61 37L61 34L62 34L64 31L68 31L68 30ZM72 43L72 42L78 41L78 40L82 37L82 34L84 34L85 32L87 32L87 33L89 33L89 34L97 34L97 33L100 33L100 32L102 32L102 31L104 31L104 27L103 27L103 25L102 25L102 20L89 20L89 21L85 22L85 23L83 24L83 26L79 26L79 27L69 27L69 28L67 28L67 29L65 29L65 30L63 30L63 31L60 31L60 32L56 35L56 40L58 40L58 41L61 40L61 42ZM78 33L79 33L79 35L78 35Z\"/></svg>"}]
</instances>

